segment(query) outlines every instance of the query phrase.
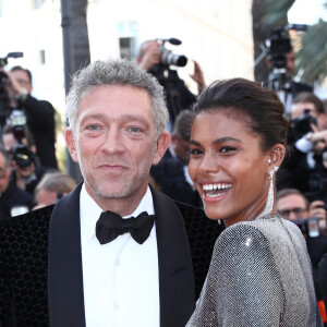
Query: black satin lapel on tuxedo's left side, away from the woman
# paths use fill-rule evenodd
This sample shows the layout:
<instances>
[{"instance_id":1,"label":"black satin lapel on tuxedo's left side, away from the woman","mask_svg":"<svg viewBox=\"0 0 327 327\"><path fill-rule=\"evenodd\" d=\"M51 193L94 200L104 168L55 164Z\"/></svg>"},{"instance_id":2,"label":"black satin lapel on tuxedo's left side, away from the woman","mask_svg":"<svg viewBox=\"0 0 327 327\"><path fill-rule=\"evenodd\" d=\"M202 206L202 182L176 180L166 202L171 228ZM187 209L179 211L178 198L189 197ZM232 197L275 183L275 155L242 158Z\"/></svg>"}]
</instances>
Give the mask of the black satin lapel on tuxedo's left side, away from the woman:
<instances>
[{"instance_id":1,"label":"black satin lapel on tuxedo's left side, away from the woman","mask_svg":"<svg viewBox=\"0 0 327 327\"><path fill-rule=\"evenodd\" d=\"M51 327L85 326L80 227L82 183L57 203L49 229L49 317Z\"/></svg>"}]
</instances>

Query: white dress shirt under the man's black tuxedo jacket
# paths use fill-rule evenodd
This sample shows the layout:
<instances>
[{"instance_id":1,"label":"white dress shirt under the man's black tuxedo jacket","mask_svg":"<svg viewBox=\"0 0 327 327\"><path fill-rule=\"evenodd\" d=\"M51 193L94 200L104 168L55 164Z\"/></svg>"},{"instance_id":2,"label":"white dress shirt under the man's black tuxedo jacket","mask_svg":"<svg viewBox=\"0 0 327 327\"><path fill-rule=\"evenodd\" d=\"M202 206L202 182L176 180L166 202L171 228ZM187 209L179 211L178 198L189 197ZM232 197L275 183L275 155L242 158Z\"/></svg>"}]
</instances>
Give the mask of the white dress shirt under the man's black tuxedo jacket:
<instances>
[{"instance_id":1,"label":"white dress shirt under the man's black tuxedo jacket","mask_svg":"<svg viewBox=\"0 0 327 327\"><path fill-rule=\"evenodd\" d=\"M85 185L81 191L80 209L86 326L159 327L155 225L143 244L125 233L101 245L95 228L102 210L88 195ZM131 216L136 217L142 211L155 213L149 189Z\"/></svg>"}]
</instances>

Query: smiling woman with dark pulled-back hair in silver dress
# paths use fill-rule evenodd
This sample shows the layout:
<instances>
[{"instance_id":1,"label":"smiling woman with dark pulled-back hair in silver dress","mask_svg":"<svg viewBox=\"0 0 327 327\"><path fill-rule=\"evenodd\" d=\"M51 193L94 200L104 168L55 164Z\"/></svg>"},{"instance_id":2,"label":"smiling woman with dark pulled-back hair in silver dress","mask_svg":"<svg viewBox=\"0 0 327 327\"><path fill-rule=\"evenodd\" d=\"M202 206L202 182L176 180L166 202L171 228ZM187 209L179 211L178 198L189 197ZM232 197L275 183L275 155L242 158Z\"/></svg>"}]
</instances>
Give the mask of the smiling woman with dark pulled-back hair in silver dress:
<instances>
[{"instance_id":1,"label":"smiling woman with dark pulled-back hair in silver dress","mask_svg":"<svg viewBox=\"0 0 327 327\"><path fill-rule=\"evenodd\" d=\"M227 228L187 327L323 326L304 238L276 210L288 125L278 96L234 78L194 110L189 172L206 215Z\"/></svg>"}]
</instances>

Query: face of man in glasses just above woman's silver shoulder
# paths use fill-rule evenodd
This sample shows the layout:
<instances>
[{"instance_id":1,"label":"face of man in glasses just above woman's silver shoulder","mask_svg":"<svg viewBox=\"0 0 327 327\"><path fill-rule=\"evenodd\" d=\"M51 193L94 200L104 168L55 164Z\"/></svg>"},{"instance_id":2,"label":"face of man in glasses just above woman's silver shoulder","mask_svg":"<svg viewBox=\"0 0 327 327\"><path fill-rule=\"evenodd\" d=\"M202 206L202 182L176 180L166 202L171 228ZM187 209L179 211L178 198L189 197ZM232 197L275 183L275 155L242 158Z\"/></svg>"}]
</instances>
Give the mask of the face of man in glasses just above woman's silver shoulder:
<instances>
[{"instance_id":1,"label":"face of man in glasses just above woman's silver shoulder","mask_svg":"<svg viewBox=\"0 0 327 327\"><path fill-rule=\"evenodd\" d=\"M288 220L307 219L308 210L304 198L299 194L289 194L277 201L277 210Z\"/></svg>"}]
</instances>

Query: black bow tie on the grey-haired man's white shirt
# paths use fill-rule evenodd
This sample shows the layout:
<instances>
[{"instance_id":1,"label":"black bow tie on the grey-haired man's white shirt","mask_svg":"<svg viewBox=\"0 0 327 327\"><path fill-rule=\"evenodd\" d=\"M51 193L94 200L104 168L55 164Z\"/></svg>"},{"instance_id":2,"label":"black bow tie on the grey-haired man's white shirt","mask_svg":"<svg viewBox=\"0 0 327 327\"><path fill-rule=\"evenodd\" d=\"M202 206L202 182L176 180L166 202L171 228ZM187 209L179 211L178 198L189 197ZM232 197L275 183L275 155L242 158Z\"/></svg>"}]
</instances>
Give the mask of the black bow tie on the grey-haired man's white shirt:
<instances>
[{"instance_id":1,"label":"black bow tie on the grey-haired man's white shirt","mask_svg":"<svg viewBox=\"0 0 327 327\"><path fill-rule=\"evenodd\" d=\"M96 225L96 235L100 244L109 243L119 235L131 233L131 237L143 244L148 238L155 222L155 216L146 211L140 214L136 218L123 219L120 215L112 211L105 211Z\"/></svg>"}]
</instances>

